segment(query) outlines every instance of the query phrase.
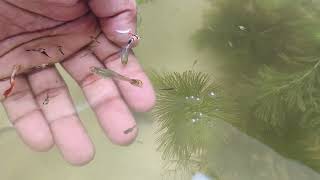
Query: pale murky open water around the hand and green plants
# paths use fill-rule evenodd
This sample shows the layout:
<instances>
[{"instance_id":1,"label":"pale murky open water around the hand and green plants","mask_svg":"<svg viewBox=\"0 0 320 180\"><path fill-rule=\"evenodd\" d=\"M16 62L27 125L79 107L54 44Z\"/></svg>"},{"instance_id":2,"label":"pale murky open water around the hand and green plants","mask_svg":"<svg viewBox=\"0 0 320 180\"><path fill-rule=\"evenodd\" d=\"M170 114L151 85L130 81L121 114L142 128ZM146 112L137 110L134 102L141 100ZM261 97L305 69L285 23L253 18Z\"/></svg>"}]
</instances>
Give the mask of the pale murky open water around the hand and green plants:
<instances>
[{"instance_id":1,"label":"pale murky open water around the hand and green plants","mask_svg":"<svg viewBox=\"0 0 320 180\"><path fill-rule=\"evenodd\" d=\"M142 41L136 49L141 64L146 69L182 72L191 69L193 62L198 60L197 71L207 72L218 79L230 79L232 73L224 70L225 63L218 60L218 55L210 49L195 48L193 37L199 30L207 28L203 26L211 8L208 0L153 0L142 5L142 22L139 27ZM87 166L72 167L62 160L55 149L49 153L30 151L14 131L7 129L0 134L0 179L178 179L167 176L167 171L163 169L164 161L161 159L161 152L156 150L156 128L150 114L136 115L140 127L136 143L125 148L112 145L106 140L92 111L84 103L80 89L66 73L63 74L79 115L96 146L95 159ZM0 127L9 126L2 109L0 117ZM228 138L228 146L216 149L213 153L216 155L210 159L216 175L212 179L320 179L320 174L304 162L288 158L285 153L280 154L272 146L238 128L225 122L218 122L216 126L217 134L222 139L225 136L232 138ZM317 152L320 153L320 150Z\"/></svg>"}]
</instances>

